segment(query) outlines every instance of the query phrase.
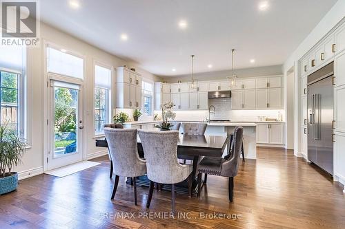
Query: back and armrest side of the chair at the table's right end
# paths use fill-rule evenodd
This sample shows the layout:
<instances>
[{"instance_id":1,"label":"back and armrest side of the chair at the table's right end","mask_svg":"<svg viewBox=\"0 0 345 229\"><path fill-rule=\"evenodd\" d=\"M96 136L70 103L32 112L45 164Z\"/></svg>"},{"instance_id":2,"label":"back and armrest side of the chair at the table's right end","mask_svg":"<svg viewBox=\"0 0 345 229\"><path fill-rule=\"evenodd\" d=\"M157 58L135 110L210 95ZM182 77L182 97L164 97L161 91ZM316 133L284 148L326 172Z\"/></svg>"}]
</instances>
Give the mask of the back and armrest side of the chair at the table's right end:
<instances>
[{"instance_id":1,"label":"back and armrest side of the chair at the table's right end","mask_svg":"<svg viewBox=\"0 0 345 229\"><path fill-rule=\"evenodd\" d=\"M221 166L221 175L226 177L235 177L239 168L239 157L241 156L243 140L243 127L237 126L234 131L232 152Z\"/></svg>"}]
</instances>

